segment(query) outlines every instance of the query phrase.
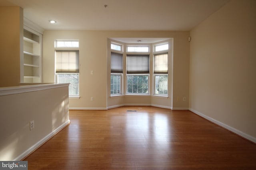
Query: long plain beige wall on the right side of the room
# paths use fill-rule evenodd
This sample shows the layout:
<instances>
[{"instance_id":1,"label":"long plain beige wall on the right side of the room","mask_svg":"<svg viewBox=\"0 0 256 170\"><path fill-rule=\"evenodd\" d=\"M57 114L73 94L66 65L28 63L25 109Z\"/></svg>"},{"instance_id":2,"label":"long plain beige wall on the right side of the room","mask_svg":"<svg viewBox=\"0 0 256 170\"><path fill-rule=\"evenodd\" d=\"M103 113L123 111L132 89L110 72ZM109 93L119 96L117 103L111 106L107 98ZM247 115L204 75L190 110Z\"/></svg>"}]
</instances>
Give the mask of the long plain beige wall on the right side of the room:
<instances>
[{"instance_id":1,"label":"long plain beige wall on the right side of the room","mask_svg":"<svg viewBox=\"0 0 256 170\"><path fill-rule=\"evenodd\" d=\"M231 0L190 34L190 109L256 142L256 1Z\"/></svg>"}]
</instances>

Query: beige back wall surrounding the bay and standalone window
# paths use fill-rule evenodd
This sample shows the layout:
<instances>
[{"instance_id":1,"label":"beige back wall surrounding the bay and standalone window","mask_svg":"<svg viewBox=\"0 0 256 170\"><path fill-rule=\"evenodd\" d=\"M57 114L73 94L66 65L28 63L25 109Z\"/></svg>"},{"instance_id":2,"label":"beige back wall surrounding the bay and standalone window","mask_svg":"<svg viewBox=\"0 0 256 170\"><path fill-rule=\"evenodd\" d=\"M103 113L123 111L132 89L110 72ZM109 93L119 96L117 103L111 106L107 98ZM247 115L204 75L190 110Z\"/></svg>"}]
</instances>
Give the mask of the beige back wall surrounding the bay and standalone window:
<instances>
[{"instance_id":1,"label":"beige back wall surrounding the bay and standalone window","mask_svg":"<svg viewBox=\"0 0 256 170\"><path fill-rule=\"evenodd\" d=\"M189 31L62 31L46 30L43 36L43 82L54 82L54 40L79 39L80 99L70 99L70 107L80 109L106 109L125 104L159 105L168 108L188 108L189 89ZM118 97L110 98L110 62L107 57L108 38L163 37L173 38L173 72L169 76L169 98ZM90 74L94 70L94 75ZM173 75L172 75L173 74ZM172 85L173 84L173 85ZM94 97L94 101L90 101ZM187 101L172 97L186 97Z\"/></svg>"}]
</instances>

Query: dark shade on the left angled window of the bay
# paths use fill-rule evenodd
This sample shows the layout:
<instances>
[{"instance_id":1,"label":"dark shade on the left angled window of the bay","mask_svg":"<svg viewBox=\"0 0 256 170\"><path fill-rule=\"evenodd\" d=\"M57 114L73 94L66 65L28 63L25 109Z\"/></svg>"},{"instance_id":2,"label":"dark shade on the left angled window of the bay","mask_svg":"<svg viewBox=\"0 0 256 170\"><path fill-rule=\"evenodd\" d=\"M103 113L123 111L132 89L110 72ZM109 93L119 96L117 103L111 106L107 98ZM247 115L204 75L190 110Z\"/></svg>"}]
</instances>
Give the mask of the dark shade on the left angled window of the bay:
<instances>
[{"instance_id":1,"label":"dark shade on the left angled window of the bay","mask_svg":"<svg viewBox=\"0 0 256 170\"><path fill-rule=\"evenodd\" d=\"M111 73L123 72L123 55L111 52Z\"/></svg>"}]
</instances>

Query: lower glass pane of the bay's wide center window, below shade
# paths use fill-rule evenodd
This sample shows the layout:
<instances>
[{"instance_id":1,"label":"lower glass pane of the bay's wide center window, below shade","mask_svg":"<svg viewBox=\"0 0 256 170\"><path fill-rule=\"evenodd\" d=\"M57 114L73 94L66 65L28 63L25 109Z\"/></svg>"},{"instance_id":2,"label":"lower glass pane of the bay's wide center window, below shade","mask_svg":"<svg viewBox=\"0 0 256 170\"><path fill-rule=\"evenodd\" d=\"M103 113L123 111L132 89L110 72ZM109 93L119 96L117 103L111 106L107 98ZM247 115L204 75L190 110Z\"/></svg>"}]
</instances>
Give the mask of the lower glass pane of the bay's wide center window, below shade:
<instances>
[{"instance_id":1,"label":"lower glass pane of the bay's wide center window, below shade","mask_svg":"<svg viewBox=\"0 0 256 170\"><path fill-rule=\"evenodd\" d=\"M148 94L148 75L127 75L127 94Z\"/></svg>"}]
</instances>

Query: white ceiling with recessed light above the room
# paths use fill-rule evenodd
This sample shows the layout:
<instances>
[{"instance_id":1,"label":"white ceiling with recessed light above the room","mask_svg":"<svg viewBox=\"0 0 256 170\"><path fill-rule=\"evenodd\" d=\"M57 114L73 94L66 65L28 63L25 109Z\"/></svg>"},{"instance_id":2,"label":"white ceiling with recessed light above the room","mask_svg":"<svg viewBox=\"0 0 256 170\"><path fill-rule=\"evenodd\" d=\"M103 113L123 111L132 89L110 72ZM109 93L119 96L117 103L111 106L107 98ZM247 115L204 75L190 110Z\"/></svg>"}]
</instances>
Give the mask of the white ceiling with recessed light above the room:
<instances>
[{"instance_id":1,"label":"white ceiling with recessed light above the room","mask_svg":"<svg viewBox=\"0 0 256 170\"><path fill-rule=\"evenodd\" d=\"M43 29L189 31L228 0L0 0ZM107 5L105 8L104 5ZM57 23L50 24L49 20Z\"/></svg>"}]
</instances>

